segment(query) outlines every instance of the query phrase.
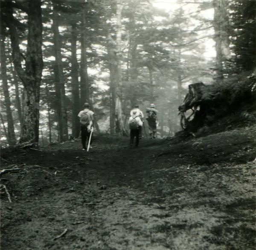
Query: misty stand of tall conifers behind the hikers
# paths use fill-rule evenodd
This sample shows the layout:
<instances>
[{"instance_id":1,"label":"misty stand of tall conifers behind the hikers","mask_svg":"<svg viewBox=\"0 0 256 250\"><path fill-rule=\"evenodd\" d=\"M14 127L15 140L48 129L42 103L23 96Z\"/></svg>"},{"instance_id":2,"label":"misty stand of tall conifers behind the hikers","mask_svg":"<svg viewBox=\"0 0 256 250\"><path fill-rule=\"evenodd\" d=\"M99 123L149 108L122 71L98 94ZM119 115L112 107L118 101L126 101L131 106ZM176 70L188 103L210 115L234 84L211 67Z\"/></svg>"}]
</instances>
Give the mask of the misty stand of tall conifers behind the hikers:
<instances>
[{"instance_id":1,"label":"misty stand of tall conifers behind the hikers","mask_svg":"<svg viewBox=\"0 0 256 250\"><path fill-rule=\"evenodd\" d=\"M221 89L252 73L256 1L177 0L173 11L154 2L1 0L2 142L78 138L84 102L96 134L127 135L131 108L154 103L158 134L173 136L189 84Z\"/></svg>"}]
</instances>

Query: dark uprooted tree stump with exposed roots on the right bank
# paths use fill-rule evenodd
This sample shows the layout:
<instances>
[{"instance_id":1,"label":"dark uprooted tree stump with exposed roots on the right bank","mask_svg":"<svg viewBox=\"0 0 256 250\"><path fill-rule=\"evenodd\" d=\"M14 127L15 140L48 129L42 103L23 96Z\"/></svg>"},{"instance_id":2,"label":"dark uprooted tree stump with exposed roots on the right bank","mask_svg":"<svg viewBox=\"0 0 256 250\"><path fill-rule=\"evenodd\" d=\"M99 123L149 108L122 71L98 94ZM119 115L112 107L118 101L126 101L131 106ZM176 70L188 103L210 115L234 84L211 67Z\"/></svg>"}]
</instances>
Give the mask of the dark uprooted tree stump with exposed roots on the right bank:
<instances>
[{"instance_id":1,"label":"dark uprooted tree stump with exposed roots on the right bank","mask_svg":"<svg viewBox=\"0 0 256 250\"><path fill-rule=\"evenodd\" d=\"M230 78L223 84L189 85L189 93L179 106L180 125L187 133L210 126L218 119L233 114L238 119L256 121L256 77ZM186 111L192 113L186 116Z\"/></svg>"}]
</instances>

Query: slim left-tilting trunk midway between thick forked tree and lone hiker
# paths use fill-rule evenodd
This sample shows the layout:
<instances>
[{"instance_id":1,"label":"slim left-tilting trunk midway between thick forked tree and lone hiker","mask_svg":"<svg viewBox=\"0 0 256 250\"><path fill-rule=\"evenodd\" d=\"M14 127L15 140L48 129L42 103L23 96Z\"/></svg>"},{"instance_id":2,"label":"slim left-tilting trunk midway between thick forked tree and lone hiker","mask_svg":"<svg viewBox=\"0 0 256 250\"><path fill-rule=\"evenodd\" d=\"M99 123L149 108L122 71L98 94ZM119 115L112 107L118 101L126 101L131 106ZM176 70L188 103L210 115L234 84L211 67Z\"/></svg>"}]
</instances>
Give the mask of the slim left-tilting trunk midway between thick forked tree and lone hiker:
<instances>
[{"instance_id":1,"label":"slim left-tilting trunk midway between thick forked tree and lone hiker","mask_svg":"<svg viewBox=\"0 0 256 250\"><path fill-rule=\"evenodd\" d=\"M58 102L58 125L60 132L60 141L68 140L68 126L67 126L67 105L65 95L65 83L63 76L62 57L61 57L61 40L59 34L59 20L58 13L55 11L56 6L53 4L53 39L54 39L54 55L55 55L55 90L56 99Z\"/></svg>"}]
</instances>

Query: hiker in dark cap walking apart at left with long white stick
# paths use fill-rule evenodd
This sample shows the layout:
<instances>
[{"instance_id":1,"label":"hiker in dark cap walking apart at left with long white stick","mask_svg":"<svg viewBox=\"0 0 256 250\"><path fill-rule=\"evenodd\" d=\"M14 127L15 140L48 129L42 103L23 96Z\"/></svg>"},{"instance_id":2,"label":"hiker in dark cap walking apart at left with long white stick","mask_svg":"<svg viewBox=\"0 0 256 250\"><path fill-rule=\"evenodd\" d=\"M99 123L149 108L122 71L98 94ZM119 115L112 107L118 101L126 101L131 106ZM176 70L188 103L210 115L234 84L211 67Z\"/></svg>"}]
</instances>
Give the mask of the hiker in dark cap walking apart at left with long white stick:
<instances>
[{"instance_id":1,"label":"hiker in dark cap walking apart at left with long white stick","mask_svg":"<svg viewBox=\"0 0 256 250\"><path fill-rule=\"evenodd\" d=\"M90 131L93 127L93 111L90 110L90 105L88 102L84 103L84 110L80 111L78 116L80 118L80 124L81 124L81 141L83 150L86 149L86 138L88 137L88 142L90 138ZM92 144L92 138L90 141L90 144Z\"/></svg>"}]
</instances>

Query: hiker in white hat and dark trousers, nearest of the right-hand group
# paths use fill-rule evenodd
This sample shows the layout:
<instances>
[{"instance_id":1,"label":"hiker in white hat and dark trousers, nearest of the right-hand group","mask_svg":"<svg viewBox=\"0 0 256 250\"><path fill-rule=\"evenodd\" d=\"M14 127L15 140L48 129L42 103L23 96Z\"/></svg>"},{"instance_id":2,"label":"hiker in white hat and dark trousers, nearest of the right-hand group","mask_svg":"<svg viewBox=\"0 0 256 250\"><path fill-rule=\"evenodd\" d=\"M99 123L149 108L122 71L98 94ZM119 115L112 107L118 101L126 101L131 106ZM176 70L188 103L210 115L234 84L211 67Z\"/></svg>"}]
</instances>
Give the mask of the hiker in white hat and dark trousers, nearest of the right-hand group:
<instances>
[{"instance_id":1,"label":"hiker in white hat and dark trousers, nearest of the right-hand group","mask_svg":"<svg viewBox=\"0 0 256 250\"><path fill-rule=\"evenodd\" d=\"M143 122L140 117L137 116L137 111L132 112L132 116L129 118L129 127L130 127L130 148L133 145L134 137L136 137L135 147L139 146L139 137L140 137L140 128L143 126Z\"/></svg>"}]
</instances>

